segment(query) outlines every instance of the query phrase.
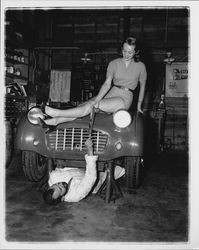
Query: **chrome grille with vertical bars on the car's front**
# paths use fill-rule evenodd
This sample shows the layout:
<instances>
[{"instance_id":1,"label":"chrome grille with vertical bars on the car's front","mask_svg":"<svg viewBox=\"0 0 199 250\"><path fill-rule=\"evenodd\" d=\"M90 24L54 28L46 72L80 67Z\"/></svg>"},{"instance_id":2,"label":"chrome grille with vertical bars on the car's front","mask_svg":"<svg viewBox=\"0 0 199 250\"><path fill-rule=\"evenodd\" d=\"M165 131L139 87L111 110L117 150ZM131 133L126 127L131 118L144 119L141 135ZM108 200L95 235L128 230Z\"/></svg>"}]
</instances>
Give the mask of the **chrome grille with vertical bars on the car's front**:
<instances>
[{"instance_id":1,"label":"chrome grille with vertical bars on the car's front","mask_svg":"<svg viewBox=\"0 0 199 250\"><path fill-rule=\"evenodd\" d=\"M48 147L56 151L86 150L85 141L88 139L87 128L57 129L47 135ZM108 135L102 131L92 131L93 149L95 153L105 150Z\"/></svg>"}]
</instances>

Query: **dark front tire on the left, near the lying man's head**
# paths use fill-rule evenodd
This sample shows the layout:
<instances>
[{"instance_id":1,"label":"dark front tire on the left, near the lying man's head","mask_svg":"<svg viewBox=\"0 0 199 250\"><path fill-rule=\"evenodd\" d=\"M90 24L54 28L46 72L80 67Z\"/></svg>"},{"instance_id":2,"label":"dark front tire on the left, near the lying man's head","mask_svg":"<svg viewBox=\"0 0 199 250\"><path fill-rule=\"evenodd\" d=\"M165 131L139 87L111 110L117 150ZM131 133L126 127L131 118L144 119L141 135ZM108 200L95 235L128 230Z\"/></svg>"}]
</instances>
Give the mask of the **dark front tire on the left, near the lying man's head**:
<instances>
[{"instance_id":1,"label":"dark front tire on the left, near the lying man's head","mask_svg":"<svg viewBox=\"0 0 199 250\"><path fill-rule=\"evenodd\" d=\"M22 167L25 176L30 181L38 182L46 174L47 171L47 158L32 152L22 152Z\"/></svg>"}]
</instances>

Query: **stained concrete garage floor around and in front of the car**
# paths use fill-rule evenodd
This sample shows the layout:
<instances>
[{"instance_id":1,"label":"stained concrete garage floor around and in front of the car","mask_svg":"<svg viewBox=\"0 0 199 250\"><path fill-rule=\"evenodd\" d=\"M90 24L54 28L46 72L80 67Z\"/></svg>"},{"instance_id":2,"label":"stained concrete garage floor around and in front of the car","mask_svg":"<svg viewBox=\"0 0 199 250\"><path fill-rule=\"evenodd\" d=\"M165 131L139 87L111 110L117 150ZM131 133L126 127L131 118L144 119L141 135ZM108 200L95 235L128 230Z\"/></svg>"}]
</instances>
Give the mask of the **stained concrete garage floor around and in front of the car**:
<instances>
[{"instance_id":1,"label":"stained concrete garage floor around and in front of the car","mask_svg":"<svg viewBox=\"0 0 199 250\"><path fill-rule=\"evenodd\" d=\"M79 203L44 204L15 157L6 170L7 242L187 242L188 157L162 153L145 167L136 194L106 204L97 195Z\"/></svg>"}]
</instances>

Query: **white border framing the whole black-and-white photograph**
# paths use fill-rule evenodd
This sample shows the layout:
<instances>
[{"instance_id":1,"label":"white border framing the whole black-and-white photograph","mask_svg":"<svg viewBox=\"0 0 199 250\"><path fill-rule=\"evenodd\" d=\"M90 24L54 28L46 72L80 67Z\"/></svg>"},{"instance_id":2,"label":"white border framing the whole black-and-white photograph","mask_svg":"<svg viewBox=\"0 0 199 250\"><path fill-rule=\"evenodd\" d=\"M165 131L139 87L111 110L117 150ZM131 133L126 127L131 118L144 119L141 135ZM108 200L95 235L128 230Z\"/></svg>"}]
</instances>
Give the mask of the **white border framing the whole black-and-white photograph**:
<instances>
[{"instance_id":1,"label":"white border framing the whole black-and-white photograph","mask_svg":"<svg viewBox=\"0 0 199 250\"><path fill-rule=\"evenodd\" d=\"M4 11L7 7L17 8L127 8L127 7L167 7L179 6L190 8L190 62L189 62L189 242L184 243L20 243L5 241L5 125L4 125ZM199 116L199 2L198 1L28 1L28 0L1 0L1 216L2 225L0 234L1 249L199 249L199 147L198 147L198 116Z\"/></svg>"}]
</instances>

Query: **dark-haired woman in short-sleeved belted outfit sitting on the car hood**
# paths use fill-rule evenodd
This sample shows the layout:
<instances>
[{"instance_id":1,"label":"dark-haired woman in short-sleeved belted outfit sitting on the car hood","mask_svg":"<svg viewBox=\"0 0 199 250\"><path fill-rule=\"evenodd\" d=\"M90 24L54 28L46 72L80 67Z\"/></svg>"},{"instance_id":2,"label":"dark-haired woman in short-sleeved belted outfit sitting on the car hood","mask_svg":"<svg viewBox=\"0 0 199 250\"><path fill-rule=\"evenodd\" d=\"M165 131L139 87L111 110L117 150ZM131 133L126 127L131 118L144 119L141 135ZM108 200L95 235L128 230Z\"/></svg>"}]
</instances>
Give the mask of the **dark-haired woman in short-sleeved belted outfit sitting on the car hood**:
<instances>
[{"instance_id":1,"label":"dark-haired woman in short-sleeved belted outfit sitting on the car hood","mask_svg":"<svg viewBox=\"0 0 199 250\"><path fill-rule=\"evenodd\" d=\"M139 61L139 49L136 39L128 37L122 43L122 58L111 61L107 68L106 80L98 95L91 100L71 109L45 107L45 112L52 117L46 119L47 125L54 125L88 115L92 108L108 113L119 109L128 110L133 101L134 90L140 84L137 111L142 113L147 72L143 62ZM113 85L112 85L113 82Z\"/></svg>"}]
</instances>

